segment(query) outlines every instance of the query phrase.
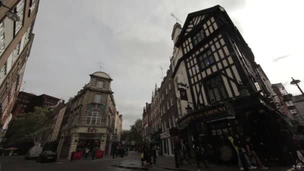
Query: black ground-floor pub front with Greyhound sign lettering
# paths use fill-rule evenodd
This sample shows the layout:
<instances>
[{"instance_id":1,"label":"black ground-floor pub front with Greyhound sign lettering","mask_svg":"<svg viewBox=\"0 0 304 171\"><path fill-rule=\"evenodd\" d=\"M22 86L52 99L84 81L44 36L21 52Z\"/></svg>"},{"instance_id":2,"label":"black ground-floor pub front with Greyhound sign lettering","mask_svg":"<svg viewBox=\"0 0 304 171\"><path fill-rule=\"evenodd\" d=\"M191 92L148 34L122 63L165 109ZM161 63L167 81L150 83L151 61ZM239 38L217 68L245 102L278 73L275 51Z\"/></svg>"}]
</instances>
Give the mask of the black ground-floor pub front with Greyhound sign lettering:
<instances>
[{"instance_id":1,"label":"black ground-floor pub front with Greyhound sign lettering","mask_svg":"<svg viewBox=\"0 0 304 171\"><path fill-rule=\"evenodd\" d=\"M280 118L280 121L278 121ZM263 141L268 154L278 144L280 130L291 126L279 111L265 99L247 96L192 111L177 121L179 135L186 143L189 156L194 157L191 146L199 143L208 158L218 162L237 162L236 153L228 137L235 134L250 136L254 142ZM273 155L273 154L271 154Z\"/></svg>"}]
</instances>

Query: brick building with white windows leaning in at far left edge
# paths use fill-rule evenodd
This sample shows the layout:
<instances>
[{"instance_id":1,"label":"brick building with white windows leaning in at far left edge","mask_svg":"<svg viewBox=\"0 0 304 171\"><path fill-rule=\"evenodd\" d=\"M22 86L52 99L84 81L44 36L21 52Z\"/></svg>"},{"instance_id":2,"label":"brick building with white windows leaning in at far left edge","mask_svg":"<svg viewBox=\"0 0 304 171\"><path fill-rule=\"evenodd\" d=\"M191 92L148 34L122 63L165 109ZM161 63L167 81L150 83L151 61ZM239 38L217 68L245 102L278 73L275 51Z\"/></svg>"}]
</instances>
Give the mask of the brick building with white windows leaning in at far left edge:
<instances>
[{"instance_id":1,"label":"brick building with white windows leaning in at far left edge","mask_svg":"<svg viewBox=\"0 0 304 171\"><path fill-rule=\"evenodd\" d=\"M0 7L0 141L12 118L12 107L18 95L25 63L29 56L34 34L32 28L39 0L2 0L19 16L9 19Z\"/></svg>"}]
</instances>

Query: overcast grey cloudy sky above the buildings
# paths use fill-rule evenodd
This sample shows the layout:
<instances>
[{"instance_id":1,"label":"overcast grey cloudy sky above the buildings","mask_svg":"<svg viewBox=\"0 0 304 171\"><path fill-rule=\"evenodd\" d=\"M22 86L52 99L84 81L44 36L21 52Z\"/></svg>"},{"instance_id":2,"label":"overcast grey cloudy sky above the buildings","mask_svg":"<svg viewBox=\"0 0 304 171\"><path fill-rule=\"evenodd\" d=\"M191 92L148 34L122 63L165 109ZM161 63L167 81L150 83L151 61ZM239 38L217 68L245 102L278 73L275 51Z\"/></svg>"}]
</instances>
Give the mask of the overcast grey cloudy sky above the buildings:
<instances>
[{"instance_id":1,"label":"overcast grey cloudy sky above the buildings","mask_svg":"<svg viewBox=\"0 0 304 171\"><path fill-rule=\"evenodd\" d=\"M40 0L22 88L67 100L88 82L102 62L111 75L123 128L141 118L150 102L161 65L172 55L173 12L187 14L220 4L240 30L272 83L298 90L291 76L304 81L301 52L302 1L293 0ZM165 71L164 71L165 73ZM301 85L304 88L304 85Z\"/></svg>"}]
</instances>

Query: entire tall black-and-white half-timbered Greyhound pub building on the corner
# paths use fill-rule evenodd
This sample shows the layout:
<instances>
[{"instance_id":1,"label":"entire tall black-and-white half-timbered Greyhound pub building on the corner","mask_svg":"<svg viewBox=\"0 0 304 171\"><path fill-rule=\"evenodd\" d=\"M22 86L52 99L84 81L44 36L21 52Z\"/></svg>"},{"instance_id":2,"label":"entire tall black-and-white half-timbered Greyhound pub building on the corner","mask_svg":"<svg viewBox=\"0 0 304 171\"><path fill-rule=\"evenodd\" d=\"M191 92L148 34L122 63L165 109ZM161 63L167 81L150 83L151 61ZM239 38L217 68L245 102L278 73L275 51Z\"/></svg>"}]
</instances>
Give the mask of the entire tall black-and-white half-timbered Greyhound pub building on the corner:
<instances>
[{"instance_id":1,"label":"entire tall black-and-white half-timbered Greyhound pub building on the corner","mask_svg":"<svg viewBox=\"0 0 304 171\"><path fill-rule=\"evenodd\" d=\"M216 5L189 13L183 27L174 25L172 40L181 138L189 146L197 141L220 149L225 161L235 159L228 140L235 134L251 136L277 151L283 143L281 131L289 132L292 125L274 105L257 70L260 66L224 8ZM186 100L180 90L187 93Z\"/></svg>"}]
</instances>

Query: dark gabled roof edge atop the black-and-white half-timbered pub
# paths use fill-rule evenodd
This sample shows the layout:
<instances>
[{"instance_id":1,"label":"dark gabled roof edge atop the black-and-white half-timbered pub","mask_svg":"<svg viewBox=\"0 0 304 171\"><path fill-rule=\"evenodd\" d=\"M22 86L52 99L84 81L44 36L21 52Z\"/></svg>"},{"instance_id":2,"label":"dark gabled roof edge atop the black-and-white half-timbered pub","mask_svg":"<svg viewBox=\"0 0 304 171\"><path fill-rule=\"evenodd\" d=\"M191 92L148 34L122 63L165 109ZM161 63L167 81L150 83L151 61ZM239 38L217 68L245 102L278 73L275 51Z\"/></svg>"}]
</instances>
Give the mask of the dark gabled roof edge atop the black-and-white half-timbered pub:
<instances>
[{"instance_id":1,"label":"dark gabled roof edge atop the black-and-white half-timbered pub","mask_svg":"<svg viewBox=\"0 0 304 171\"><path fill-rule=\"evenodd\" d=\"M209 7L209 8L203 9L203 10L188 13L187 18L182 26L180 35L178 36L178 39L175 43L175 46L179 46L179 44L181 43L182 37L186 34L187 31L190 31L195 24L197 24L200 20L202 20L204 18L204 14L214 12L217 9L224 10L223 7L221 7L220 5L215 5L213 7ZM193 17L195 17L195 16L199 16L199 17L192 20Z\"/></svg>"}]
</instances>

